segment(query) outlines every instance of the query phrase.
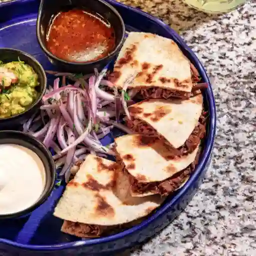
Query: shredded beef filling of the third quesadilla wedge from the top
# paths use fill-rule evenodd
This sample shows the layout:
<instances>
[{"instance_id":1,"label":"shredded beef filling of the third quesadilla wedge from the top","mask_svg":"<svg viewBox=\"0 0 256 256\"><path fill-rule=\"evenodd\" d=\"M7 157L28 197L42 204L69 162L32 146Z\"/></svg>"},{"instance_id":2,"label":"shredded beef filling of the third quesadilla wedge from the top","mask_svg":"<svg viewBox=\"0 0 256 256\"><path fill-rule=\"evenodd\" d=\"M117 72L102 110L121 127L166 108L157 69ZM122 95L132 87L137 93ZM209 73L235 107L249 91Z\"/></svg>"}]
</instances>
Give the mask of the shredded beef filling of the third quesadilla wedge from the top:
<instances>
[{"instance_id":1,"label":"shredded beef filling of the third quesadilla wedge from the top","mask_svg":"<svg viewBox=\"0 0 256 256\"><path fill-rule=\"evenodd\" d=\"M168 195L169 193L175 191L182 184L184 178L187 177L195 169L195 166L198 163L198 159L199 150L195 160L189 166L163 181L142 183L138 182L132 175L128 173L131 189L133 192L141 194L146 192L153 192L155 194ZM124 171L126 171L126 169L124 169Z\"/></svg>"}]
</instances>

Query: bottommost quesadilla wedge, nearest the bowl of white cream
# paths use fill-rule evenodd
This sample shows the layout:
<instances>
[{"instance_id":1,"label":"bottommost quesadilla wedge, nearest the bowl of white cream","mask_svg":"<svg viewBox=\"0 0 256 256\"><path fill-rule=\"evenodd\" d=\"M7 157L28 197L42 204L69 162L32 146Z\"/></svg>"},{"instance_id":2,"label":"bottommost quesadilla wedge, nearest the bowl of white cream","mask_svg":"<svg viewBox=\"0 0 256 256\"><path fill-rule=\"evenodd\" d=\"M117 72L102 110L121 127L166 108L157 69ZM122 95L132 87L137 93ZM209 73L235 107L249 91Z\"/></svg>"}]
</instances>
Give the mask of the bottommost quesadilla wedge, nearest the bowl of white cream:
<instances>
[{"instance_id":1,"label":"bottommost quesadilla wedge, nearest the bowl of white cream","mask_svg":"<svg viewBox=\"0 0 256 256\"><path fill-rule=\"evenodd\" d=\"M66 220L62 231L94 237L149 214L162 201L157 195L132 197L120 165L89 154L66 185L53 215Z\"/></svg>"}]
</instances>

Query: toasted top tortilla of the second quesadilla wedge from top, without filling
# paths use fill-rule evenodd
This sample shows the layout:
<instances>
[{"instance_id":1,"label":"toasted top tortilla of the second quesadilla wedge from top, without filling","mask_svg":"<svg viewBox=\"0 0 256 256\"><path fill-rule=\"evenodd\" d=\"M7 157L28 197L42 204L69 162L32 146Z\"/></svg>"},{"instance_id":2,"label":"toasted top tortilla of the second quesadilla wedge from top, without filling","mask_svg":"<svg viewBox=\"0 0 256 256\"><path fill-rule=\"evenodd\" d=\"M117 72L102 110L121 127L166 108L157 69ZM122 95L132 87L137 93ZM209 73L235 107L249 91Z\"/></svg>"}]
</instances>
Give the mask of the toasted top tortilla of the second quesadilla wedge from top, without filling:
<instances>
[{"instance_id":1,"label":"toasted top tortilla of the second quesadilla wedge from top, without filling","mask_svg":"<svg viewBox=\"0 0 256 256\"><path fill-rule=\"evenodd\" d=\"M186 100L146 99L128 107L133 118L143 120L174 148L184 144L197 125L202 95Z\"/></svg>"}]
</instances>

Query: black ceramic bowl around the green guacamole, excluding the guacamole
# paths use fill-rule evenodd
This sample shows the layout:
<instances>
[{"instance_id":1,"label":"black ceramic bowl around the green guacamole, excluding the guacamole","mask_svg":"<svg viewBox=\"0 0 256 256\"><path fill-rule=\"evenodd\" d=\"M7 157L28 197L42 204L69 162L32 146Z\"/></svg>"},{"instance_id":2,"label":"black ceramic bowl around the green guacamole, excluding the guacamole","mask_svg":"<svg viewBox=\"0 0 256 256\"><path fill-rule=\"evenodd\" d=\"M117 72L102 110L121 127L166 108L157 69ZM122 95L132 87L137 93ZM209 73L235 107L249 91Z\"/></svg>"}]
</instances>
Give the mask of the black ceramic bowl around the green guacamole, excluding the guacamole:
<instances>
[{"instance_id":1,"label":"black ceramic bowl around the green guacamole, excluding the guacamole","mask_svg":"<svg viewBox=\"0 0 256 256\"><path fill-rule=\"evenodd\" d=\"M0 48L0 60L2 62L17 61L18 59L31 66L37 73L39 86L36 88L39 93L36 100L24 112L10 117L0 118L0 129L17 129L17 126L22 123L22 121L29 118L29 116L38 109L42 96L45 93L47 79L40 63L24 51L11 48Z\"/></svg>"}]
</instances>

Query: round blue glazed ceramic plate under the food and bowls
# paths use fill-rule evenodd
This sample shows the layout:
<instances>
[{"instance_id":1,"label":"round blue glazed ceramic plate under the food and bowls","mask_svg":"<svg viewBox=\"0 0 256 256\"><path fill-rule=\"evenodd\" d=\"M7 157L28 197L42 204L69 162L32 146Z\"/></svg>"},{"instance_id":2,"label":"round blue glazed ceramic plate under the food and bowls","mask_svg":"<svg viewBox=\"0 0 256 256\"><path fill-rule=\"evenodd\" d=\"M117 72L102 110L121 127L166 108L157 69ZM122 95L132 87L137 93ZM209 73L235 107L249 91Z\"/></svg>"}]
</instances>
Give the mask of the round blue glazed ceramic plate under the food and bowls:
<instances>
[{"instance_id":1,"label":"round blue glazed ceramic plate under the food and bowls","mask_svg":"<svg viewBox=\"0 0 256 256\"><path fill-rule=\"evenodd\" d=\"M180 213L193 196L203 173L209 166L215 134L216 113L212 89L201 63L179 35L160 20L113 0L107 1L120 12L126 24L126 30L151 32L172 38L196 66L202 81L208 83L209 86L204 90L203 96L210 118L199 164L188 182L171 195L146 220L117 234L96 239L81 240L60 232L62 220L52 216L52 211L64 187L57 187L48 200L34 210L30 216L0 222L0 255L112 254L114 251L142 242L168 225ZM0 3L0 47L26 51L33 55L45 69L54 70L42 53L36 39L35 25L38 5L38 0L13 0ZM102 143L112 142L114 135L116 134L106 136Z\"/></svg>"}]
</instances>

